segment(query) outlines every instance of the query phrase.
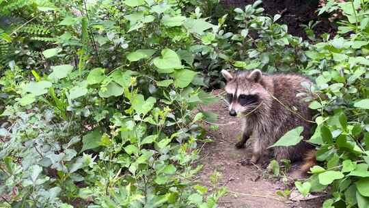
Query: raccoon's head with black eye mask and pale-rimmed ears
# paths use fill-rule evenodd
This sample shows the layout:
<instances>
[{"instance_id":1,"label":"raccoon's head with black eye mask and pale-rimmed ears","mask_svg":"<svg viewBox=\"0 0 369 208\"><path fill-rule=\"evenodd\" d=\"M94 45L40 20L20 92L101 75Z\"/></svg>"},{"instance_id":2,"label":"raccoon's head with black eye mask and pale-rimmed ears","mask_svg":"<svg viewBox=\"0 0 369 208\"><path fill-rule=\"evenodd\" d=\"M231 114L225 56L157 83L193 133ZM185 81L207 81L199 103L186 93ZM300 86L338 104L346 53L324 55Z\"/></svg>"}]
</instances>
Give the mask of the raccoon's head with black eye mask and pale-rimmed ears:
<instances>
[{"instance_id":1,"label":"raccoon's head with black eye mask and pale-rimmed ears","mask_svg":"<svg viewBox=\"0 0 369 208\"><path fill-rule=\"evenodd\" d=\"M230 116L253 111L268 94L262 84L262 72L258 69L235 75L227 70L221 70L221 73L227 80L225 90L230 103Z\"/></svg>"}]
</instances>

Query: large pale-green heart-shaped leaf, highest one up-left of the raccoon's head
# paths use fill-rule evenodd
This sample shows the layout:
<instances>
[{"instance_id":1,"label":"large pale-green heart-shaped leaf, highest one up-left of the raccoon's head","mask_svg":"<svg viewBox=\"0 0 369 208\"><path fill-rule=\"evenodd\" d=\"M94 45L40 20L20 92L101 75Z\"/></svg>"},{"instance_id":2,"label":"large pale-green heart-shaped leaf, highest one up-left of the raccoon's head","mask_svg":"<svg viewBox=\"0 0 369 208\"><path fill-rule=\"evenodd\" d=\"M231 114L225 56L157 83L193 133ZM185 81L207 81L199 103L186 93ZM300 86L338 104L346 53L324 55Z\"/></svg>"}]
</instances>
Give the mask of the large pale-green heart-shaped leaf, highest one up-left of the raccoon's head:
<instances>
[{"instance_id":1,"label":"large pale-green heart-shaped leaf, highest one up-left of the raccoon's head","mask_svg":"<svg viewBox=\"0 0 369 208\"><path fill-rule=\"evenodd\" d=\"M179 56L171 49L164 49L161 55L162 57L156 57L153 60L159 73L172 73L175 68L183 68Z\"/></svg>"}]
</instances>

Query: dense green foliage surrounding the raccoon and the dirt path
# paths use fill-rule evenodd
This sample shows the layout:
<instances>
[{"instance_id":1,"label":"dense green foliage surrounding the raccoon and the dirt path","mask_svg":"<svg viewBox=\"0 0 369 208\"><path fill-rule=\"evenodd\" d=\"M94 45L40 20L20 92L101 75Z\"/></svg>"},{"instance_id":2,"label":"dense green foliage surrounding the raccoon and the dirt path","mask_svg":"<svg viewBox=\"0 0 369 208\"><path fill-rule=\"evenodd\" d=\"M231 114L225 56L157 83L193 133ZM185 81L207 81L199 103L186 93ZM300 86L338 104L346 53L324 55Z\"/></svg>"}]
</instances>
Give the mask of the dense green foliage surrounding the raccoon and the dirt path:
<instances>
[{"instance_id":1,"label":"dense green foliage surrounding the raccoon and the dirt path","mask_svg":"<svg viewBox=\"0 0 369 208\"><path fill-rule=\"evenodd\" d=\"M193 109L217 100L221 69L260 68L315 81L319 166L298 190L368 207L368 1L328 1L338 35L310 23L309 41L261 1L229 15L217 3L0 1L1 206L216 207L218 175L212 192L194 182L208 141L196 122L216 115Z\"/></svg>"}]
</instances>

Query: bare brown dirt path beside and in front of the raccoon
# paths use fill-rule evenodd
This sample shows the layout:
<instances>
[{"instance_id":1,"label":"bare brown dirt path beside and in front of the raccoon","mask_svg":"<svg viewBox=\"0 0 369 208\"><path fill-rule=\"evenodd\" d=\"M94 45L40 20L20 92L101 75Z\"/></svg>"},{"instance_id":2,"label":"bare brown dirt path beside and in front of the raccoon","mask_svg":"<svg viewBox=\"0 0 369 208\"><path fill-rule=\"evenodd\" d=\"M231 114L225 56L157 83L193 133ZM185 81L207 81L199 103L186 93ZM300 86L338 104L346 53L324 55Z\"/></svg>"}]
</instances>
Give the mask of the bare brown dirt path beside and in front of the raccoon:
<instances>
[{"instance_id":1,"label":"bare brown dirt path beside and in front of the raccoon","mask_svg":"<svg viewBox=\"0 0 369 208\"><path fill-rule=\"evenodd\" d=\"M215 94L219 94L220 90ZM294 190L293 179L287 173L290 180L283 183L281 177L273 177L266 168L260 165L243 166L241 162L251 157L251 147L247 142L246 148L237 149L234 144L241 136L241 122L239 118L229 116L228 107L223 101L203 106L204 111L219 115L217 123L219 129L211 130L210 125L203 126L208 131L208 136L213 142L206 143L200 154L200 164L204 165L197 181L211 188L210 175L217 171L221 174L219 187L226 186L228 194L219 201L219 207L227 208L285 208L285 207L321 207L323 198L308 196L303 198ZM292 169L297 164L292 165ZM292 188L290 197L277 196L278 190L283 191Z\"/></svg>"}]
</instances>

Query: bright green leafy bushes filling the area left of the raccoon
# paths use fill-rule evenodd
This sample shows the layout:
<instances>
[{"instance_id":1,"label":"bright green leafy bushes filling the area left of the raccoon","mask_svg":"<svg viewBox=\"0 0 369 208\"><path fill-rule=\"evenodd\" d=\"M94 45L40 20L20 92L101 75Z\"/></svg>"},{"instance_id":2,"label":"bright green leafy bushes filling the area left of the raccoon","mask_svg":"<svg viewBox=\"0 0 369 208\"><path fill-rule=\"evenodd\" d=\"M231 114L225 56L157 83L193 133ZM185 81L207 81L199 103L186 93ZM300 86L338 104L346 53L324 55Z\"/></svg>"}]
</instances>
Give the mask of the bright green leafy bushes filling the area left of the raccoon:
<instances>
[{"instance_id":1,"label":"bright green leafy bushes filling the area left of the raccoon","mask_svg":"<svg viewBox=\"0 0 369 208\"><path fill-rule=\"evenodd\" d=\"M174 1L17 2L1 206L215 207L217 175L211 193L193 183L207 114L191 111L216 100L193 65L217 26Z\"/></svg>"}]
</instances>

